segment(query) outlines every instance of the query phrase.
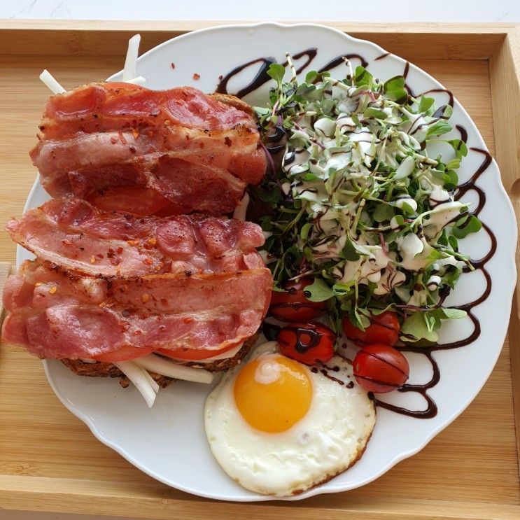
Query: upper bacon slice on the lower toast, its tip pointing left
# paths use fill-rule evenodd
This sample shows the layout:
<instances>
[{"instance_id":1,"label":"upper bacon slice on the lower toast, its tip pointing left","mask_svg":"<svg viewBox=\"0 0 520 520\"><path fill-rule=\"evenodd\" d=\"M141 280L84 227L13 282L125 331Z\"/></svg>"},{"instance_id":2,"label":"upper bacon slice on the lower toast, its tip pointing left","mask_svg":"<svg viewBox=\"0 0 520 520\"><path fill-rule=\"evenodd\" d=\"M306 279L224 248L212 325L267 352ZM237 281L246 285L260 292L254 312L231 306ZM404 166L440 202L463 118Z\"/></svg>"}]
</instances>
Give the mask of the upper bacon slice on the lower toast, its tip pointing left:
<instances>
[{"instance_id":1,"label":"upper bacon slice on the lower toast, its tip pointing left","mask_svg":"<svg viewBox=\"0 0 520 520\"><path fill-rule=\"evenodd\" d=\"M74 197L52 199L6 225L10 237L78 274L223 273L264 267L256 224L194 214L136 218L104 212Z\"/></svg>"}]
</instances>

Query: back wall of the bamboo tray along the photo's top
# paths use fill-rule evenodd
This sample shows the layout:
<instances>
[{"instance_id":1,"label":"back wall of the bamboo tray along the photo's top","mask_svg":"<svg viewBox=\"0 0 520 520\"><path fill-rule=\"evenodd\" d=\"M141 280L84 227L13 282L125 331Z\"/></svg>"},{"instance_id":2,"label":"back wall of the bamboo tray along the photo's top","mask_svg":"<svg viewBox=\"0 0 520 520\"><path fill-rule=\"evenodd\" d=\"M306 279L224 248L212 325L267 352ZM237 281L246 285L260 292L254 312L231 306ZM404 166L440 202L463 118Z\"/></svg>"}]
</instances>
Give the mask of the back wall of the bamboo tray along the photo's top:
<instances>
[{"instance_id":1,"label":"back wall of the bamboo tray along the photo's top","mask_svg":"<svg viewBox=\"0 0 520 520\"><path fill-rule=\"evenodd\" d=\"M96 55L123 57L127 40L136 32L142 36L141 51L179 34L209 25L239 22L162 21L115 22L99 20L0 20L5 37L5 55ZM247 21L244 21L247 23ZM296 23L296 22L284 22ZM320 23L316 20L316 23ZM321 22L381 45L405 59L488 59L513 24L458 23L363 23ZM412 43L412 45L410 45ZM122 68L122 67L120 67Z\"/></svg>"}]
</instances>

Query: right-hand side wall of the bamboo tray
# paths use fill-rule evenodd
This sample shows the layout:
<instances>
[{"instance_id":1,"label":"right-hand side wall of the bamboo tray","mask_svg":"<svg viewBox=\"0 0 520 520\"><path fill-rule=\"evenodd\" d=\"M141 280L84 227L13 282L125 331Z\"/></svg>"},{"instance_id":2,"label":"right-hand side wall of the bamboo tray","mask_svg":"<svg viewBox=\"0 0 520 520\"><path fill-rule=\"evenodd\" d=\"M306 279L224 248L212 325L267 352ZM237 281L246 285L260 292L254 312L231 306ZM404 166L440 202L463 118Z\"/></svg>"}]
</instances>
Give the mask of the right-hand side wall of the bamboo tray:
<instances>
[{"instance_id":1,"label":"right-hand side wall of the bamboo tray","mask_svg":"<svg viewBox=\"0 0 520 520\"><path fill-rule=\"evenodd\" d=\"M503 183L510 195L517 222L520 219L520 27L510 31L490 61L493 126L497 135L508 135L509 139L498 139L496 159L500 166ZM511 109L511 107L516 109ZM517 248L517 266L520 265L520 251ZM517 425L517 451L520 460L520 284L517 283L516 296L510 322L511 371L514 398L514 416ZM516 310L515 310L516 309Z\"/></svg>"}]
</instances>

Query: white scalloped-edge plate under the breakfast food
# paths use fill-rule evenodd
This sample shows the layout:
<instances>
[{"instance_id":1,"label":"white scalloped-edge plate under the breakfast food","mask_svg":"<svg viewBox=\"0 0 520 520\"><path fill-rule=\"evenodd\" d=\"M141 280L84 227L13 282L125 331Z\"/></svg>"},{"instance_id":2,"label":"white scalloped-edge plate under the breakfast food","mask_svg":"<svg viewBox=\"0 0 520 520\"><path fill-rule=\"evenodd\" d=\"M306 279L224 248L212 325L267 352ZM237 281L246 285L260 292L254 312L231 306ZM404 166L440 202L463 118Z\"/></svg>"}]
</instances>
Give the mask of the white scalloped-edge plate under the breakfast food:
<instances>
[{"instance_id":1,"label":"white scalloped-edge plate under the breakfast food","mask_svg":"<svg viewBox=\"0 0 520 520\"><path fill-rule=\"evenodd\" d=\"M345 54L362 56L368 62L368 69L381 80L402 74L406 66L403 59L383 56L385 51L374 43L351 38L335 29L313 24L262 23L214 27L179 36L141 56L137 71L148 79L146 85L155 89L193 85L212 92L218 84L218 76L225 75L239 64L260 57L273 57L277 62L284 62L286 51L296 55L309 48L317 48L318 52L304 73L319 69L331 59ZM359 63L356 58L352 61L354 65ZM297 65L303 63L303 58L297 61ZM228 85L230 92L237 92L250 83L255 71L258 71L258 65L234 76ZM335 71L338 75L345 74L344 69ZM198 80L194 79L194 73L200 75ZM120 77L118 73L111 79ZM413 65L409 66L407 83L414 92L442 88L431 76ZM249 94L246 100L265 102L269 86L266 84ZM439 98L439 102L442 104L442 99ZM467 130L469 148L486 149L477 128L458 101L454 104L453 121ZM456 132L455 136L458 136ZM459 172L461 182L475 173L483 158L482 153L470 150ZM480 218L498 238L496 253L485 265L491 275L491 293L473 309L482 325L478 339L463 348L433 354L440 366L441 379L428 393L437 402L437 416L414 419L378 409L377 425L363 458L342 475L294 497L294 500L363 486L402 459L416 454L463 412L489 377L502 348L510 316L516 280L514 251L517 228L494 160L477 184L486 193ZM27 199L26 209L42 204L45 199L48 195L37 180ZM468 192L463 199L477 201L475 192ZM489 235L482 230L464 240L463 251L471 253L472 258L482 258L490 247ZM18 248L17 253L18 263L29 258L29 253L22 248ZM485 288L486 278L482 270L464 274L447 303L475 300ZM456 321L442 330L442 339L460 339L471 330L469 319ZM422 384L428 381L432 367L426 357L410 354L408 358L412 367L410 382ZM237 501L269 500L269 497L242 489L213 459L203 428L204 400L209 392L207 386L176 383L160 391L154 407L148 409L135 388L124 390L117 381L110 379L77 377L58 361L45 361L44 365L49 382L63 404L84 421L101 442L118 451L143 472L169 486L199 496ZM463 374L461 367L464 367ZM415 409L425 406L421 396L413 393L396 392L388 399Z\"/></svg>"}]
</instances>

